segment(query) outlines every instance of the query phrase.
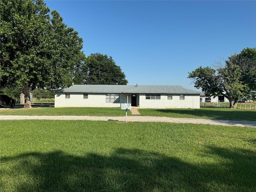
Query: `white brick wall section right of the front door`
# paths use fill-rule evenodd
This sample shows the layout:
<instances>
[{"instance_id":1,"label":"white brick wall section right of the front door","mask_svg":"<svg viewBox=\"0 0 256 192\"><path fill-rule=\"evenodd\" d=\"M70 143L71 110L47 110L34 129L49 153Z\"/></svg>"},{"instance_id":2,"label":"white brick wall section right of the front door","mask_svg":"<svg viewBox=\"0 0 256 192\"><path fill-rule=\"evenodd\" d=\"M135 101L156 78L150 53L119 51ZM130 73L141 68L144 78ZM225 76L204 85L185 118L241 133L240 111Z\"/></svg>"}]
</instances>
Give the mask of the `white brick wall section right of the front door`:
<instances>
[{"instance_id":1,"label":"white brick wall section right of the front door","mask_svg":"<svg viewBox=\"0 0 256 192\"><path fill-rule=\"evenodd\" d=\"M185 99L180 100L180 94L172 94L172 99L168 99L168 94L161 94L160 99L146 99L146 94L140 94L140 108L200 108L199 94L185 94Z\"/></svg>"}]
</instances>

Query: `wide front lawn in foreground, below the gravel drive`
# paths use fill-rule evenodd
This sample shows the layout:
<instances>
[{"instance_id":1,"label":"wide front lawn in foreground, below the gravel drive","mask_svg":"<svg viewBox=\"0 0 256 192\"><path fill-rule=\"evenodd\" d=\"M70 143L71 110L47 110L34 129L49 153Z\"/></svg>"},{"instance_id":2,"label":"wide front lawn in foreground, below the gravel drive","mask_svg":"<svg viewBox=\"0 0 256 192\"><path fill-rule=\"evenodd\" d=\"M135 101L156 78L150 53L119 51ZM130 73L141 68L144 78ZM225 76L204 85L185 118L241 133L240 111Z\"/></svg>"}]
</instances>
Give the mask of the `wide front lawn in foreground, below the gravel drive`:
<instances>
[{"instance_id":1,"label":"wide front lawn in foreground, below the gravel drive","mask_svg":"<svg viewBox=\"0 0 256 192\"><path fill-rule=\"evenodd\" d=\"M255 128L80 120L0 125L0 191L256 191Z\"/></svg>"}]
</instances>

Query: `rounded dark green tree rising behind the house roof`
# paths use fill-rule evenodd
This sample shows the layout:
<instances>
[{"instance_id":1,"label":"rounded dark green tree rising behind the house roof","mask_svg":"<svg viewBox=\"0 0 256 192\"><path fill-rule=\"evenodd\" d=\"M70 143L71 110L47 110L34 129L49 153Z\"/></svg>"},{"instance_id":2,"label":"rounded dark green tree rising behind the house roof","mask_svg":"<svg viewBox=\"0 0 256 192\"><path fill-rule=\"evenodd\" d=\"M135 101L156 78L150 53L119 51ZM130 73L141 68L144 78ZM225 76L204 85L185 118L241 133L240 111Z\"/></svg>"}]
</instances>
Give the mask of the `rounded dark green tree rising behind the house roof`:
<instances>
[{"instance_id":1,"label":"rounded dark green tree rising behind the house roof","mask_svg":"<svg viewBox=\"0 0 256 192\"><path fill-rule=\"evenodd\" d=\"M77 84L126 85L128 81L120 66L112 57L100 53L90 54L84 65L79 66L75 73Z\"/></svg>"}]
</instances>

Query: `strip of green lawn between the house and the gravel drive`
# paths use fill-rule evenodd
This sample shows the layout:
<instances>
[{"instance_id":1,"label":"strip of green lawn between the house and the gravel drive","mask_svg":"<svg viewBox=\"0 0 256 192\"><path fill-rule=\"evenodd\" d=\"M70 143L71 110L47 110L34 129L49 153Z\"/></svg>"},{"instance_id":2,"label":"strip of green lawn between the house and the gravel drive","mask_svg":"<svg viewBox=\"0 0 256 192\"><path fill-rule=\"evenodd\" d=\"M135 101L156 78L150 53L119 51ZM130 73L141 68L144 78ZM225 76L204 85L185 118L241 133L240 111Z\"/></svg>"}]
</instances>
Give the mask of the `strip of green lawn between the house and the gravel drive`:
<instances>
[{"instance_id":1,"label":"strip of green lawn between the house and the gravel drive","mask_svg":"<svg viewBox=\"0 0 256 192\"><path fill-rule=\"evenodd\" d=\"M159 116L170 118L204 118L224 120L256 121L256 110L201 107L200 109L139 109L140 116ZM29 115L29 116L125 116L125 110L120 108L49 108L38 107L32 109L5 109L1 115ZM128 116L132 115L128 110Z\"/></svg>"}]
</instances>

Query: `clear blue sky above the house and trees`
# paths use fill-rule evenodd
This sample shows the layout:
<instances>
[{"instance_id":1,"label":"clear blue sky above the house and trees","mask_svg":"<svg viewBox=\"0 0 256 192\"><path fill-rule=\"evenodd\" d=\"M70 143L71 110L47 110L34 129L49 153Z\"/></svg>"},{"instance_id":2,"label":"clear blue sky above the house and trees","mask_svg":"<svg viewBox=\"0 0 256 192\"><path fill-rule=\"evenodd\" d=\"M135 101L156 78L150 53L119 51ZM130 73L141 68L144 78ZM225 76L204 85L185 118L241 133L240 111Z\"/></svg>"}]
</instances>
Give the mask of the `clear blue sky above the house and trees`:
<instances>
[{"instance_id":1,"label":"clear blue sky above the house and trees","mask_svg":"<svg viewBox=\"0 0 256 192\"><path fill-rule=\"evenodd\" d=\"M128 85L181 85L188 72L256 47L256 1L45 0L84 40L112 56Z\"/></svg>"}]
</instances>

